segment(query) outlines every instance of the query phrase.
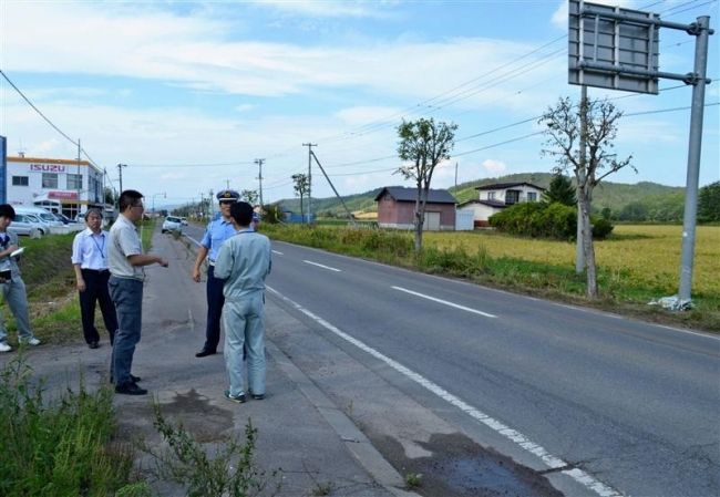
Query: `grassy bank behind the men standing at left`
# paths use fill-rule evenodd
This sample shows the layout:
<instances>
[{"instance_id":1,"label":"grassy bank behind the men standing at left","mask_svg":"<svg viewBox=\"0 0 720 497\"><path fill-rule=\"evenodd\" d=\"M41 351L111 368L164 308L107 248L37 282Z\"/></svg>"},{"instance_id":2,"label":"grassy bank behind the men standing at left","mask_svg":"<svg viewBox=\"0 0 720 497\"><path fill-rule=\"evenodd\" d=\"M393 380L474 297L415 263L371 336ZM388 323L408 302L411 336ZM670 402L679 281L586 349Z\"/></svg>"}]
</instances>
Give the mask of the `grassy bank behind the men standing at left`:
<instances>
[{"instance_id":1,"label":"grassy bank behind the men standing at left","mask_svg":"<svg viewBox=\"0 0 720 497\"><path fill-rule=\"evenodd\" d=\"M154 219L141 225L145 250L150 250L154 227ZM70 261L74 237L75 234L68 234L20 239L20 246L25 247L20 270L28 288L30 321L34 334L45 343L82 339L75 273ZM14 319L4 302L2 312L11 331L9 341L17 343ZM96 312L95 322L102 325L100 309Z\"/></svg>"}]
</instances>

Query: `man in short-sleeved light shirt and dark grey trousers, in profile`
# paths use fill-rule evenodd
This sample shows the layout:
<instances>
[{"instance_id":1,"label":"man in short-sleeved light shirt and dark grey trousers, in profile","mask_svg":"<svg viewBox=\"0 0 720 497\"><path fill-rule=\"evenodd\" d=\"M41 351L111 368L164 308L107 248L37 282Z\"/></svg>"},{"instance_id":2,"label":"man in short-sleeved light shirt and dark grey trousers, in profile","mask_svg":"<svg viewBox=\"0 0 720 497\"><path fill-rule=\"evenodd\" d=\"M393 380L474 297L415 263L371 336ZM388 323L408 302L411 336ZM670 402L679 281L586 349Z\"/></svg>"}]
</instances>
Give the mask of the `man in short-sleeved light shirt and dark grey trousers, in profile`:
<instances>
[{"instance_id":1,"label":"man in short-sleeved light shirt and dark grey trousers, in profile","mask_svg":"<svg viewBox=\"0 0 720 497\"><path fill-rule=\"evenodd\" d=\"M117 311L119 327L113 342L111 376L115 393L144 395L145 389L137 386L140 377L131 373L135 345L140 342L143 315L144 266L167 261L151 253L143 253L135 222L143 218L143 194L125 190L120 194L120 216L110 228L107 266L110 268L110 297Z\"/></svg>"}]
</instances>

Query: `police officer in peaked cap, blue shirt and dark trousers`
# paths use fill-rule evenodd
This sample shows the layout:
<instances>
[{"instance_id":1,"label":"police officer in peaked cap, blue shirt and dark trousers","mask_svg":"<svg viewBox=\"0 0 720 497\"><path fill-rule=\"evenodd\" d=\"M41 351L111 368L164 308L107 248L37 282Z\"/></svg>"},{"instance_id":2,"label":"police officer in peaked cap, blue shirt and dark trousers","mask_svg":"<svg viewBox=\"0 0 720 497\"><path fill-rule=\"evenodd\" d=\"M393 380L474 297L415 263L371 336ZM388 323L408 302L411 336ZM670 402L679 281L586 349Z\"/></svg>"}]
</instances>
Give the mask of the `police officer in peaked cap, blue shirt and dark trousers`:
<instances>
[{"instance_id":1,"label":"police officer in peaked cap, blue shirt and dark trousers","mask_svg":"<svg viewBox=\"0 0 720 497\"><path fill-rule=\"evenodd\" d=\"M209 268L207 270L207 329L205 332L205 344L195 354L196 358L205 358L217 353L217 344L220 341L220 315L223 314L224 280L215 278L215 259L225 240L235 235L235 228L230 218L230 206L238 201L240 195L232 189L225 189L217 194L220 204L220 216L210 221L200 240L200 248L195 258L195 266L191 277L194 281L200 281L200 267L207 257Z\"/></svg>"}]
</instances>

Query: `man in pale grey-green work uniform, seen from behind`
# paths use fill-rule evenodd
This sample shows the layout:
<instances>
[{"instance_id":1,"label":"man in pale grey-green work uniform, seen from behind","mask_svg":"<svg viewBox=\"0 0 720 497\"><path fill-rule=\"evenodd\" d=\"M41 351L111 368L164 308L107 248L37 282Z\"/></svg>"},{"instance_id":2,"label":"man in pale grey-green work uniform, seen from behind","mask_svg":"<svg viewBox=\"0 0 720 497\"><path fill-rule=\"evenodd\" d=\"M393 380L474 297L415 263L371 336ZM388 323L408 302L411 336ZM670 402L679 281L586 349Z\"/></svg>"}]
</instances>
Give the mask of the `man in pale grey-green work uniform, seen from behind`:
<instances>
[{"instance_id":1,"label":"man in pale grey-green work uniform, seen from behind","mask_svg":"<svg viewBox=\"0 0 720 497\"><path fill-rule=\"evenodd\" d=\"M225 280L223 325L225 364L229 389L225 396L243 403L245 381L243 351L247 350L249 394L265 398L265 278L270 272L270 240L253 230L253 206L233 204L230 216L236 235L223 244L215 261L215 277Z\"/></svg>"}]
</instances>

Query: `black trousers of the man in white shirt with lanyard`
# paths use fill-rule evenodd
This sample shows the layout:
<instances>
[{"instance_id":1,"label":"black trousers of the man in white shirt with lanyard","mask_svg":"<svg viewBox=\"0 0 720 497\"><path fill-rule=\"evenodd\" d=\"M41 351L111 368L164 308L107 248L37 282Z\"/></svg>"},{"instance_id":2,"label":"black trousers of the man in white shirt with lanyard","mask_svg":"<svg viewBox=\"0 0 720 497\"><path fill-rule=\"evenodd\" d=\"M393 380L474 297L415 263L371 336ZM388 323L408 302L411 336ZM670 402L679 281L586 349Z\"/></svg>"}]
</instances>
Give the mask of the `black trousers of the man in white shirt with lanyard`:
<instances>
[{"instance_id":1,"label":"black trousers of the man in white shirt with lanyard","mask_svg":"<svg viewBox=\"0 0 720 497\"><path fill-rule=\"evenodd\" d=\"M110 343L113 343L115 330L117 330L117 315L115 306L110 298L107 290L107 280L110 271L94 271L92 269L82 269L82 278L85 280L85 291L78 292L80 296L80 314L82 317L82 332L85 335L85 342L99 342L100 333L95 328L95 303L100 303L100 311L103 314L105 329L110 334Z\"/></svg>"}]
</instances>

